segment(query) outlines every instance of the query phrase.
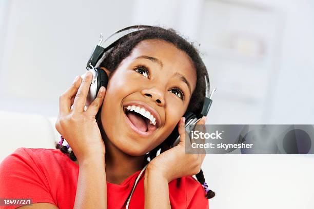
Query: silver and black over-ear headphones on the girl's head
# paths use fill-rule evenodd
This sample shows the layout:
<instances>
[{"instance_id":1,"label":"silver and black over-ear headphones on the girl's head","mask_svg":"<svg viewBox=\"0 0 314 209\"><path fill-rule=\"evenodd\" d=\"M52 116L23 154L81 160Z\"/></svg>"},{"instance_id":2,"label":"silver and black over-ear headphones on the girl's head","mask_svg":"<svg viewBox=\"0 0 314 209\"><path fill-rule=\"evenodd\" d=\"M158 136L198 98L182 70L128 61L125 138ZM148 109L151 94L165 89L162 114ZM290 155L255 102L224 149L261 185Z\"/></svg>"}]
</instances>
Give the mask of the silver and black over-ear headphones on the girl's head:
<instances>
[{"instance_id":1,"label":"silver and black over-ear headphones on the girl's head","mask_svg":"<svg viewBox=\"0 0 314 209\"><path fill-rule=\"evenodd\" d=\"M103 35L100 35L99 43L95 46L94 50L91 53L91 56L87 62L86 69L91 71L93 74L93 79L91 81L91 86L89 89L89 93L87 96L86 106L89 106L90 103L96 98L96 95L99 89L103 87L107 87L108 84L108 75L107 73L100 69L95 68L94 66L99 65L106 55L111 52L113 47L118 43L118 41L131 33L135 33L141 30L146 30L149 28L153 28L153 26L146 25L135 25L123 28L119 31L116 31L112 35L110 35L107 39L103 39ZM85 74L82 76L84 77ZM209 94L209 78L208 75L204 77L206 83L206 94L203 103L203 107L200 113L194 113L191 111L187 111L183 117L185 117L185 129L188 134L194 129L195 124L203 117L207 116L209 108L211 106L212 93L216 91L214 89L211 94ZM176 144L180 142L180 135L177 129L174 129L170 136L165 140L165 142L170 146L174 147Z\"/></svg>"}]
</instances>

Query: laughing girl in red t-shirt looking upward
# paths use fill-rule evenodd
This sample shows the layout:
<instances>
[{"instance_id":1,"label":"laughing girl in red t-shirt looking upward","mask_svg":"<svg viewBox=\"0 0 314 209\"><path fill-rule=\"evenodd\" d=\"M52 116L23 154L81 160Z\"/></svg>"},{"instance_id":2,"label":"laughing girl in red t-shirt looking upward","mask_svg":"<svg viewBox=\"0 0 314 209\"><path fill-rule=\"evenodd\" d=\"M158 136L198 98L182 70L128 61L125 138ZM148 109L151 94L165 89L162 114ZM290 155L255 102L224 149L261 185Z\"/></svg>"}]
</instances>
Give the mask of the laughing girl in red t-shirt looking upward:
<instances>
[{"instance_id":1,"label":"laughing girl in red t-shirt looking upward","mask_svg":"<svg viewBox=\"0 0 314 209\"><path fill-rule=\"evenodd\" d=\"M99 67L108 86L86 110L90 72L60 97L56 129L69 144L8 156L0 198L31 199L32 208L208 208L214 193L200 172L205 154L185 154L182 117L200 112L205 96L197 50L174 30L151 27L121 38ZM181 141L169 149L177 124Z\"/></svg>"}]
</instances>

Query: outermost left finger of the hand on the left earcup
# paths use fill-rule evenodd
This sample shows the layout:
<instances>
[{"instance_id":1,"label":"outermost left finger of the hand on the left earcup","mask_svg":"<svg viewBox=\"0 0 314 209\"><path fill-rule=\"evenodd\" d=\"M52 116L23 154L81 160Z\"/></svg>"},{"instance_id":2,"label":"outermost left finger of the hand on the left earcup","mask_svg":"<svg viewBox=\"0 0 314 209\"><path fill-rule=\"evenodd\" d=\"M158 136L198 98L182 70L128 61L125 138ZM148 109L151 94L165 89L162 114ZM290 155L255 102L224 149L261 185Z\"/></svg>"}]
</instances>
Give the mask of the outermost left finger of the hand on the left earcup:
<instances>
[{"instance_id":1,"label":"outermost left finger of the hand on the left earcup","mask_svg":"<svg viewBox=\"0 0 314 209\"><path fill-rule=\"evenodd\" d=\"M60 114L68 114L71 111L72 98L75 96L81 83L81 76L76 76L71 87L69 87L59 99Z\"/></svg>"}]
</instances>

